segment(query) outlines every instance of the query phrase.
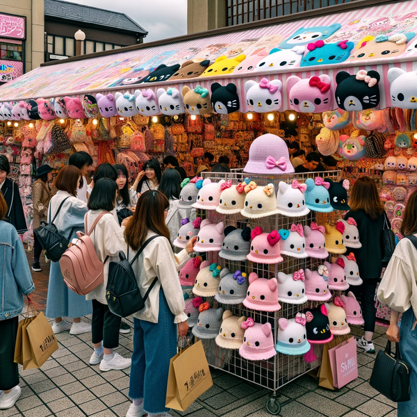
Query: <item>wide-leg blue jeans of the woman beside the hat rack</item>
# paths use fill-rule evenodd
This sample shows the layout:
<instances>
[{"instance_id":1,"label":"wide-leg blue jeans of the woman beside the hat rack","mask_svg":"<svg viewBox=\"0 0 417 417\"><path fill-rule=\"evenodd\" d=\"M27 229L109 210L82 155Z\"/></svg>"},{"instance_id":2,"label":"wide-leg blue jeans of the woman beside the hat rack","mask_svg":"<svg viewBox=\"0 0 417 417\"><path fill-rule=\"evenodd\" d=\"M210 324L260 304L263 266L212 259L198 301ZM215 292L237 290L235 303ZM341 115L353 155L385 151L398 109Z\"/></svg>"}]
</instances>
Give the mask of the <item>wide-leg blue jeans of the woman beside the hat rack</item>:
<instances>
[{"instance_id":1,"label":"wide-leg blue jeans of the woman beside the hat rack","mask_svg":"<svg viewBox=\"0 0 417 417\"><path fill-rule=\"evenodd\" d=\"M159 292L158 322L133 319L133 354L129 397L143 398L143 409L158 414L167 411L168 371L177 354L177 325L163 291Z\"/></svg>"}]
</instances>

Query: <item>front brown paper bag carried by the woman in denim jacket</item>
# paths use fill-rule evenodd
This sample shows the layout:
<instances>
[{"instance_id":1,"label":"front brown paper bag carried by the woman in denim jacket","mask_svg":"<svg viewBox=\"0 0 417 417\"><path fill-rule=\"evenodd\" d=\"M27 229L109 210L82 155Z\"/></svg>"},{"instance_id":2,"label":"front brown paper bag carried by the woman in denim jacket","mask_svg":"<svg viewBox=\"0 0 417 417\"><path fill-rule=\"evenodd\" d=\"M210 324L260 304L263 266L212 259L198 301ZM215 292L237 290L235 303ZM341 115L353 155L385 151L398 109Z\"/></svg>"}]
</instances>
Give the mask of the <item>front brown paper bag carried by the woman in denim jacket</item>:
<instances>
[{"instance_id":1,"label":"front brown paper bag carried by the woman in denim jacket","mask_svg":"<svg viewBox=\"0 0 417 417\"><path fill-rule=\"evenodd\" d=\"M47 359L58 350L58 341L42 311L26 327L31 345L32 361L35 368L40 368Z\"/></svg>"}]
</instances>

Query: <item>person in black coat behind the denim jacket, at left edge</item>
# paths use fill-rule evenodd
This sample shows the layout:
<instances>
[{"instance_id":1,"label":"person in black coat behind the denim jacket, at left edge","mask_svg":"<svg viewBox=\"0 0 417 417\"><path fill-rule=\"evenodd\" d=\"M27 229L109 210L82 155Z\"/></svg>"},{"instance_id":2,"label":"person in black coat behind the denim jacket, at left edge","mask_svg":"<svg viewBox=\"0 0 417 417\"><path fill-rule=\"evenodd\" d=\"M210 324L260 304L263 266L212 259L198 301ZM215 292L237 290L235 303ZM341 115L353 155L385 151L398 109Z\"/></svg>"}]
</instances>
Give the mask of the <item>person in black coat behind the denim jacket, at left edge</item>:
<instances>
[{"instance_id":1,"label":"person in black coat behind the denim jacket, at left edge","mask_svg":"<svg viewBox=\"0 0 417 417\"><path fill-rule=\"evenodd\" d=\"M7 212L3 221L13 224L18 234L24 234L28 227L26 226L19 186L15 181L6 178L8 174L10 174L8 158L0 155L0 190L7 204Z\"/></svg>"}]
</instances>

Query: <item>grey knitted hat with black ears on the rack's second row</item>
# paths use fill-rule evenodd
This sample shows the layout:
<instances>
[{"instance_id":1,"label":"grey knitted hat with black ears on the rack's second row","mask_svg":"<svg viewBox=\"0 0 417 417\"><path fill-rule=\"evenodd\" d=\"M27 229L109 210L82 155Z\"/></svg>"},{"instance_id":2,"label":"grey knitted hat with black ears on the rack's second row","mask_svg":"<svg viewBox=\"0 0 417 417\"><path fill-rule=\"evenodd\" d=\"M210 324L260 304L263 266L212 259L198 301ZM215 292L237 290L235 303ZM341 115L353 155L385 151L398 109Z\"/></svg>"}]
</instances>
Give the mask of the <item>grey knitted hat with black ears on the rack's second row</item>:
<instances>
[{"instance_id":1,"label":"grey knitted hat with black ears on the rack's second row","mask_svg":"<svg viewBox=\"0 0 417 417\"><path fill-rule=\"evenodd\" d=\"M220 258L230 261L246 261L246 255L250 252L250 227L236 229L234 226L227 226L224 229L224 240Z\"/></svg>"}]
</instances>

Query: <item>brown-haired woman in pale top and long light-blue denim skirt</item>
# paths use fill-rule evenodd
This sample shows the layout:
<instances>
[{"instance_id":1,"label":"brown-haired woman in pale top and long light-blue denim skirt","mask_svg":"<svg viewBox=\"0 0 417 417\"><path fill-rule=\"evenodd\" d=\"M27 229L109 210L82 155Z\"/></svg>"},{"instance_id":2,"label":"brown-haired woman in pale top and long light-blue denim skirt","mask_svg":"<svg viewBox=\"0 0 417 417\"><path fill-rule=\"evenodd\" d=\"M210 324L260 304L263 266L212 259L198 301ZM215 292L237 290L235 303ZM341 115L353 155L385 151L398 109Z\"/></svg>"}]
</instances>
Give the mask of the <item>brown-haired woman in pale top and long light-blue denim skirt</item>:
<instances>
[{"instance_id":1,"label":"brown-haired woman in pale top and long light-blue denim skirt","mask_svg":"<svg viewBox=\"0 0 417 417\"><path fill-rule=\"evenodd\" d=\"M58 191L49 203L48 221L54 218L63 202L54 224L58 234L65 236L70 242L76 238L77 231L84 231L84 216L88 211L87 204L76 197L81 179L81 171L77 167L73 165L63 167L55 179L54 185ZM80 317L91 313L91 302L85 300L85 295L77 295L71 291L64 283L59 262L51 262L46 316L55 318L52 325L54 333L65 330L70 330L71 334L91 332L91 326L80 320ZM63 320L64 316L73 318L74 322L72 324L66 322Z\"/></svg>"}]
</instances>

